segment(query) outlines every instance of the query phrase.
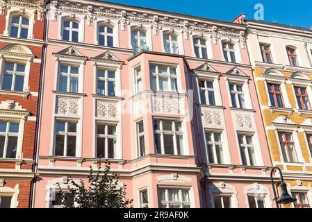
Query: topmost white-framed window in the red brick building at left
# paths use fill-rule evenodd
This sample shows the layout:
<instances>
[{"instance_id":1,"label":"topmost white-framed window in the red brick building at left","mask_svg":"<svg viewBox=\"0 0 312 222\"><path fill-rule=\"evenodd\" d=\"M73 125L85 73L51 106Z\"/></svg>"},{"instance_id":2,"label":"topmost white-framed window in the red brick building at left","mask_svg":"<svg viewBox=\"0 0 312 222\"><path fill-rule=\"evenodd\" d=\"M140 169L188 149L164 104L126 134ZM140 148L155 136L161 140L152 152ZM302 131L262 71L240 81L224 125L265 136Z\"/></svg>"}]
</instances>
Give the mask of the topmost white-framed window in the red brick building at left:
<instances>
[{"instance_id":1,"label":"topmost white-framed window in the red brick building at left","mask_svg":"<svg viewBox=\"0 0 312 222\"><path fill-rule=\"evenodd\" d=\"M28 37L28 28L29 19L22 17L22 15L12 17L10 36L26 39Z\"/></svg>"}]
</instances>

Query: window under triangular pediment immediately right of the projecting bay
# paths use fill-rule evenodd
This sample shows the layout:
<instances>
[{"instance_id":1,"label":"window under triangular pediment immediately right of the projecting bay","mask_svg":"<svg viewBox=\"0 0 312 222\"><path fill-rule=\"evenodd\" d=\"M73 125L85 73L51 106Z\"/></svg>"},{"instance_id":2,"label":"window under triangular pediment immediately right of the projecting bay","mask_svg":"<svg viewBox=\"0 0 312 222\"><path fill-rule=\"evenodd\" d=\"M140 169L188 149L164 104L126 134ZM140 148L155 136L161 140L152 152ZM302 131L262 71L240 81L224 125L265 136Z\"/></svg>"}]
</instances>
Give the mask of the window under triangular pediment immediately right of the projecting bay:
<instances>
[{"instance_id":1,"label":"window under triangular pediment immediately right of the projecting bay","mask_svg":"<svg viewBox=\"0 0 312 222\"><path fill-rule=\"evenodd\" d=\"M213 82L209 80L199 80L199 94L202 104L215 105L215 89Z\"/></svg>"}]
</instances>

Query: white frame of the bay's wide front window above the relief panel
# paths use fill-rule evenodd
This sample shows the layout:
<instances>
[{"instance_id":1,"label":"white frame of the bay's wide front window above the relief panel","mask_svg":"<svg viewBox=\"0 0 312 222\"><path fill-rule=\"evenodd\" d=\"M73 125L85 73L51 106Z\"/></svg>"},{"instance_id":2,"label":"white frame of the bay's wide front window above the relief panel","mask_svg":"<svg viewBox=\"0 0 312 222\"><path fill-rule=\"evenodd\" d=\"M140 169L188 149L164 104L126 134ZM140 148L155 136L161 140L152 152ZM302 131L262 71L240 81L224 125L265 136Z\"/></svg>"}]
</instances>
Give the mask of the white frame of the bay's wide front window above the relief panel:
<instances>
[{"instance_id":1,"label":"white frame of the bay's wide front window above the relief panel","mask_svg":"<svg viewBox=\"0 0 312 222\"><path fill-rule=\"evenodd\" d=\"M155 66L155 73L151 72L151 66ZM159 67L167 67L167 73L166 74L160 74L159 73ZM170 69L175 69L176 70L176 75L172 75L170 74ZM149 78L150 78L150 82L151 82L151 76L156 77L156 91L160 91L160 92L179 92L181 87L180 87L180 74L179 74L179 67L176 65L164 65L164 64L154 64L154 63L149 63ZM176 77L173 77L176 76ZM168 78L168 87L170 88L169 90L161 90L160 88L160 82L159 82L159 78L160 77L164 77L164 78ZM176 79L176 91L172 90L172 85L171 85L171 78L175 78ZM150 83L150 87L151 87L151 83Z\"/></svg>"}]
</instances>

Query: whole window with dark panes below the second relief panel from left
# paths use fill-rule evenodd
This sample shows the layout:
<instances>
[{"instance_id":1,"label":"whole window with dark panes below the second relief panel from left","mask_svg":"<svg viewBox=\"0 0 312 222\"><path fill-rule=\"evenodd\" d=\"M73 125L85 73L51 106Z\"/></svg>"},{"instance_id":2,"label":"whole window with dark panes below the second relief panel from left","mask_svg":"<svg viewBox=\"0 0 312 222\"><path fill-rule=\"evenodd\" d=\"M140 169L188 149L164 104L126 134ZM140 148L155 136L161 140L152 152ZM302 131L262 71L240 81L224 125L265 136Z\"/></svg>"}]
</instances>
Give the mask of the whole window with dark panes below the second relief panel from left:
<instances>
[{"instance_id":1,"label":"whole window with dark panes below the second relief panel from left","mask_svg":"<svg viewBox=\"0 0 312 222\"><path fill-rule=\"evenodd\" d=\"M116 126L97 123L97 157L113 159L116 156Z\"/></svg>"}]
</instances>

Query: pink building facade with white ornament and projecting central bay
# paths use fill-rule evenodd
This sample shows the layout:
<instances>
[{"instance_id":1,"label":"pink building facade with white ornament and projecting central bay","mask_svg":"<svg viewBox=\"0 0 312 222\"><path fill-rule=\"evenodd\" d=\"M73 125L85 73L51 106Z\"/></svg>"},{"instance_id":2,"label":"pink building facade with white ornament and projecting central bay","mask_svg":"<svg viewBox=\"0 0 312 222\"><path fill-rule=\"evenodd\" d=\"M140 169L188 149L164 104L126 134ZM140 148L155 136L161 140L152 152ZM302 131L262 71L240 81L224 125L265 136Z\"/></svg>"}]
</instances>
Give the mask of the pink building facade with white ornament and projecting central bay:
<instances>
[{"instance_id":1,"label":"pink building facade with white ornament and projecting central bay","mask_svg":"<svg viewBox=\"0 0 312 222\"><path fill-rule=\"evenodd\" d=\"M272 207L246 26L102 1L47 11L33 207L108 159L133 207Z\"/></svg>"}]
</instances>

